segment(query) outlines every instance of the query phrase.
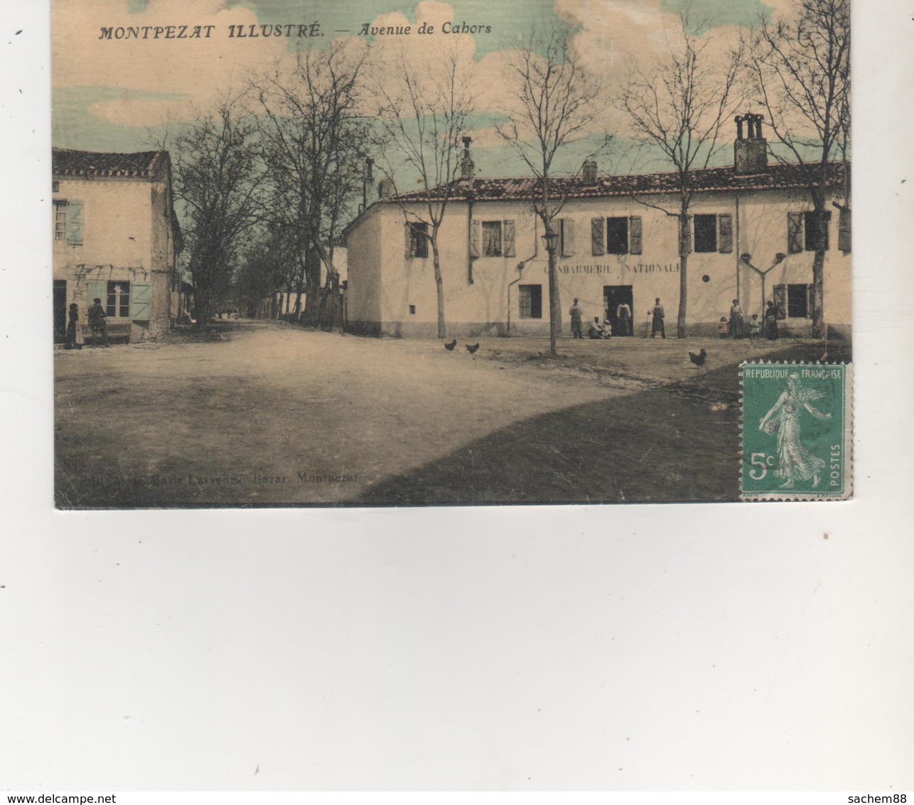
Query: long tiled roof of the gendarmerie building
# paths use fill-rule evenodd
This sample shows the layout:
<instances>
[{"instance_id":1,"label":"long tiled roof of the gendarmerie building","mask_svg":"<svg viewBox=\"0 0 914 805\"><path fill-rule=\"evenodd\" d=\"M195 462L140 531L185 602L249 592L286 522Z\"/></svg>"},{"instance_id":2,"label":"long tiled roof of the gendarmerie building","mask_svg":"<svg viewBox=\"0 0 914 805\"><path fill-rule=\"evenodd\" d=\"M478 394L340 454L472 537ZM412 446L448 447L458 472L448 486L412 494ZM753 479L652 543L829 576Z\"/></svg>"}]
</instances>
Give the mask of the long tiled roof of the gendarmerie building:
<instances>
[{"instance_id":1,"label":"long tiled roof of the gendarmerie building","mask_svg":"<svg viewBox=\"0 0 914 805\"><path fill-rule=\"evenodd\" d=\"M693 171L694 189L698 193L787 190L809 187L809 174L814 166L771 165L765 173L754 176L739 176L732 167L711 167ZM840 186L844 181L845 168L840 162L829 163L827 184ZM632 176L597 177L596 184L584 183L582 177L553 177L553 195L566 199L602 199L611 196L643 196L650 194L677 193L678 175L675 173L648 173ZM433 188L432 199L440 199L444 188ZM466 182L452 182L454 200L472 198L474 201L520 201L530 200L537 188L537 180L525 178L477 178L471 189ZM396 198L380 199L385 202L423 201L428 199L424 190L404 193Z\"/></svg>"}]
</instances>

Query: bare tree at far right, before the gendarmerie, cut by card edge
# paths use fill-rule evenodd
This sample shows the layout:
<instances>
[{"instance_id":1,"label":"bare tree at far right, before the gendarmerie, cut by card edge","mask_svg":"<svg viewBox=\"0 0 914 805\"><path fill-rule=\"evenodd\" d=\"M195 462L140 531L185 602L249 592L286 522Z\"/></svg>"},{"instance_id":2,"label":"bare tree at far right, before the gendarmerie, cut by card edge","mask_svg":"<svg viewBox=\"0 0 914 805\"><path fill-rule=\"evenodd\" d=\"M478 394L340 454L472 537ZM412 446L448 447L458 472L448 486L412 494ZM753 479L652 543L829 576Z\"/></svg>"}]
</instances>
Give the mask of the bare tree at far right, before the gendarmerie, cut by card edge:
<instances>
[{"instance_id":1,"label":"bare tree at far right, before the gendarmerie, cut by card edge","mask_svg":"<svg viewBox=\"0 0 914 805\"><path fill-rule=\"evenodd\" d=\"M792 16L762 24L751 39L755 89L783 146L773 153L800 166L813 201L816 338L824 336L827 203L836 159L845 163L845 199L836 206L850 209L850 45L848 0L799 0Z\"/></svg>"}]
</instances>

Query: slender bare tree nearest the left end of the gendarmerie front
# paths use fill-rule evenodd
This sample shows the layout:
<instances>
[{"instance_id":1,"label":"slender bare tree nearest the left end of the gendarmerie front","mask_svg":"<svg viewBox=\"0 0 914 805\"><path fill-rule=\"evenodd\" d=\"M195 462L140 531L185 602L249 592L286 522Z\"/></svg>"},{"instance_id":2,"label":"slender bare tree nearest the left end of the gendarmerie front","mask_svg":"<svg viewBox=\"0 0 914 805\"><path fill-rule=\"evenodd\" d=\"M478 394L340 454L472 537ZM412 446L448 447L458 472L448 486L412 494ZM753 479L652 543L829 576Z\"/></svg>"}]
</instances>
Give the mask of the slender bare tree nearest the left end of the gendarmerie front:
<instances>
[{"instance_id":1,"label":"slender bare tree nearest the left end of the gendarmerie front","mask_svg":"<svg viewBox=\"0 0 914 805\"><path fill-rule=\"evenodd\" d=\"M382 166L396 184L398 168L418 175L420 198L400 202L408 228L410 251L424 252L431 246L431 259L438 298L438 338L446 337L444 284L438 232L445 210L458 191L459 177L472 177L472 163L460 159L460 139L467 117L473 112L470 83L472 58L462 57L456 43L445 46L441 59L417 63L406 48L399 49L396 73L380 70L377 92L381 100L379 120L383 129ZM391 154L394 150L396 156ZM399 165L397 164L399 163ZM416 201L420 209L417 211ZM424 241L427 241L425 243Z\"/></svg>"}]
</instances>

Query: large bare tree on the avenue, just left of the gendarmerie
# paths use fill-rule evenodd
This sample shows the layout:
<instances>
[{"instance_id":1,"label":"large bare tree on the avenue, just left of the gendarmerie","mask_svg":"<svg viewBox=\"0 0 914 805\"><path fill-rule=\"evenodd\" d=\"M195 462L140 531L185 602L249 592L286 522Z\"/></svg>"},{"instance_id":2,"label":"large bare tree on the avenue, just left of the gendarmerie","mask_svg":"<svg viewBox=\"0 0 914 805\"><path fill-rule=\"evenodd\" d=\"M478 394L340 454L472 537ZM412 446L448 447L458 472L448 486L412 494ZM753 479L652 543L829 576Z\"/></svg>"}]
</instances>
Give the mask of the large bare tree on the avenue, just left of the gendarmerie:
<instances>
[{"instance_id":1,"label":"large bare tree on the avenue, just left of the gendarmerie","mask_svg":"<svg viewBox=\"0 0 914 805\"><path fill-rule=\"evenodd\" d=\"M334 41L298 53L291 70L280 65L254 81L264 113L271 216L295 233L296 313L304 293L304 324L326 329L339 314L334 244L362 189L364 63L364 49Z\"/></svg>"}]
</instances>

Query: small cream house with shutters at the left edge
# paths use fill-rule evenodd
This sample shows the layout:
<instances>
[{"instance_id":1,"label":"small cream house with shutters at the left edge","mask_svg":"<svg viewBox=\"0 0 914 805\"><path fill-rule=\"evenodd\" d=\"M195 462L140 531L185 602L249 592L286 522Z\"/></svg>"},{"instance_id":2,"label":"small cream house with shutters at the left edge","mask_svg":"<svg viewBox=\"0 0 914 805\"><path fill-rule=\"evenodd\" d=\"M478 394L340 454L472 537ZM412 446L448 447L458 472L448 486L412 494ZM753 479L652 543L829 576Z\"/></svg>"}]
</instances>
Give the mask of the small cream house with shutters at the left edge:
<instances>
[{"instance_id":1,"label":"small cream house with shutters at the left edge","mask_svg":"<svg viewBox=\"0 0 914 805\"><path fill-rule=\"evenodd\" d=\"M71 303L88 327L95 298L112 338L167 332L181 290L168 152L54 148L52 174L55 340L64 338Z\"/></svg>"}]
</instances>

